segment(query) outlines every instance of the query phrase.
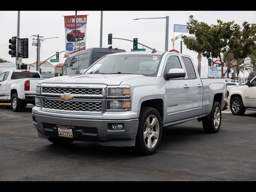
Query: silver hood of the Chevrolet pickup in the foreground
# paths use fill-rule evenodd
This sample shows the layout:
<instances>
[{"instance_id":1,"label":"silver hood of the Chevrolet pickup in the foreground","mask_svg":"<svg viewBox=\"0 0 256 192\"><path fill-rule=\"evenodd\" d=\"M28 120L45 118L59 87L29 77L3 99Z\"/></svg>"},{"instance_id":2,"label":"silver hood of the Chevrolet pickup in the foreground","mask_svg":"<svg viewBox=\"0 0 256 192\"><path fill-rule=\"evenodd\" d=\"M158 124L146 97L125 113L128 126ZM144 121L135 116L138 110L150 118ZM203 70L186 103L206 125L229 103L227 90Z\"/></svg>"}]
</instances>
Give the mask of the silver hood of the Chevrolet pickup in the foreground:
<instances>
[{"instance_id":1,"label":"silver hood of the Chevrolet pickup in the foreground","mask_svg":"<svg viewBox=\"0 0 256 192\"><path fill-rule=\"evenodd\" d=\"M77 84L106 84L120 85L122 81L147 78L144 75L137 74L84 74L60 76L45 79L39 83L77 83Z\"/></svg>"}]
</instances>

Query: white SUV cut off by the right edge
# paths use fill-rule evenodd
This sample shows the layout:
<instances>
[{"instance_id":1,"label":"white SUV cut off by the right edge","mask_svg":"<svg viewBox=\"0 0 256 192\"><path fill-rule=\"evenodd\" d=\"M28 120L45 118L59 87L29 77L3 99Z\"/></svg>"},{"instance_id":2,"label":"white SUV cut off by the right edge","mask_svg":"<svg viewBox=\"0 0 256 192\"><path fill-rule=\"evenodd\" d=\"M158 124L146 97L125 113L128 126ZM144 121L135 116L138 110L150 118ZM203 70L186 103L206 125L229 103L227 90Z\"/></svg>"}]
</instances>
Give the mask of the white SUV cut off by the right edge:
<instances>
[{"instance_id":1,"label":"white SUV cut off by the right edge","mask_svg":"<svg viewBox=\"0 0 256 192\"><path fill-rule=\"evenodd\" d=\"M230 89L228 104L234 115L243 115L247 110L256 110L256 76L244 86Z\"/></svg>"}]
</instances>

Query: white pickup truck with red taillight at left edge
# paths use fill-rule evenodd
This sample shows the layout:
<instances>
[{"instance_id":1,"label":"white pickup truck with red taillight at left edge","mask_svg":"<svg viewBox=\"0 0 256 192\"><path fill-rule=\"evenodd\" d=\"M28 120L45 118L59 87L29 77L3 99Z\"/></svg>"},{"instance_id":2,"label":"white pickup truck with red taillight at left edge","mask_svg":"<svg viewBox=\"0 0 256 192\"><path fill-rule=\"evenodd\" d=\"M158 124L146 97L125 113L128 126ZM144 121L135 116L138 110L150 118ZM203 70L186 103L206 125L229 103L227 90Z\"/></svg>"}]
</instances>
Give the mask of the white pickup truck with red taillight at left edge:
<instances>
[{"instance_id":1,"label":"white pickup truck with red taillight at left edge","mask_svg":"<svg viewBox=\"0 0 256 192\"><path fill-rule=\"evenodd\" d=\"M12 110L20 112L28 103L35 105L36 84L42 80L38 71L6 70L0 74L0 102L11 102Z\"/></svg>"}]
</instances>

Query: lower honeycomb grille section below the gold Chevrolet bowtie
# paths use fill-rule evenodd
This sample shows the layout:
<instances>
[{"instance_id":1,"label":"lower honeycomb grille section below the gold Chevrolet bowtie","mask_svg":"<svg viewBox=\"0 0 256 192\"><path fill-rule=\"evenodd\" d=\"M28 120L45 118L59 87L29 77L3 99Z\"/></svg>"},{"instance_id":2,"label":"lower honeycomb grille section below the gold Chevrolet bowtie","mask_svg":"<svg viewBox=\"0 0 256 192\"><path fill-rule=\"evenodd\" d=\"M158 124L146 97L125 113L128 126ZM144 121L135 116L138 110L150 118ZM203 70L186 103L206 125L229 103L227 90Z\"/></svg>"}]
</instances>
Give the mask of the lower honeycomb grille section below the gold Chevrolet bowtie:
<instances>
[{"instance_id":1,"label":"lower honeycomb grille section below the gold Chevrolet bowtie","mask_svg":"<svg viewBox=\"0 0 256 192\"><path fill-rule=\"evenodd\" d=\"M65 111L83 111L83 112L102 112L102 103L100 101L70 101L62 100L43 100L43 107L46 109L65 110Z\"/></svg>"}]
</instances>

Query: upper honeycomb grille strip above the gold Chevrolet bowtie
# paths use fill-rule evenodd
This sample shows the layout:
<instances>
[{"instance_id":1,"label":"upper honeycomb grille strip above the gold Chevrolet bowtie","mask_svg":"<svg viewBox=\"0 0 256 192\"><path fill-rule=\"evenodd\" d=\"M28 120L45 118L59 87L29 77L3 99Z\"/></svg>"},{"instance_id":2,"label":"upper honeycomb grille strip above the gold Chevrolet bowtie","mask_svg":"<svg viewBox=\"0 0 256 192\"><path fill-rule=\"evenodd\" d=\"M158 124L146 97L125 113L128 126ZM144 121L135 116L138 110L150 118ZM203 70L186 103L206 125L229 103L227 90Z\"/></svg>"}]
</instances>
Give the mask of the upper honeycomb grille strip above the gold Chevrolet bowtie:
<instances>
[{"instance_id":1,"label":"upper honeycomb grille strip above the gold Chevrolet bowtie","mask_svg":"<svg viewBox=\"0 0 256 192\"><path fill-rule=\"evenodd\" d=\"M62 88L62 87L43 87L42 94L79 94L79 95L102 95L102 88Z\"/></svg>"}]
</instances>

